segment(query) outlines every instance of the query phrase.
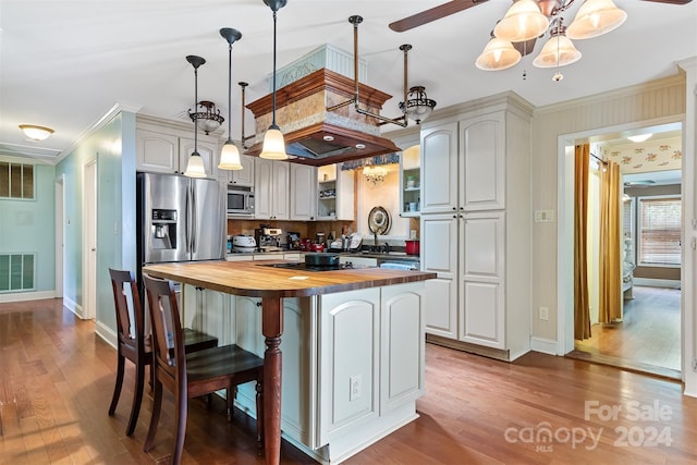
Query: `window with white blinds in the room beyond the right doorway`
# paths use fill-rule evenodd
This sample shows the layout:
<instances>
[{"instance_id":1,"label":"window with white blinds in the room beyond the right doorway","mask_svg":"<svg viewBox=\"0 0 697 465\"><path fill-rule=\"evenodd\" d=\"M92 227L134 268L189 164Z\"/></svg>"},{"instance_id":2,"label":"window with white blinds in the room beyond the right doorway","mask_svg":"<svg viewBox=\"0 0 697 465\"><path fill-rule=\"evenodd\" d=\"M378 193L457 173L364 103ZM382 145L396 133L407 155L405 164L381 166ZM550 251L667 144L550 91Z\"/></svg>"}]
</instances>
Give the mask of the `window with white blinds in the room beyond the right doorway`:
<instances>
[{"instance_id":1,"label":"window with white blinds in the room beyond the right doorway","mask_svg":"<svg viewBox=\"0 0 697 465\"><path fill-rule=\"evenodd\" d=\"M681 265L680 197L639 198L639 264Z\"/></svg>"}]
</instances>

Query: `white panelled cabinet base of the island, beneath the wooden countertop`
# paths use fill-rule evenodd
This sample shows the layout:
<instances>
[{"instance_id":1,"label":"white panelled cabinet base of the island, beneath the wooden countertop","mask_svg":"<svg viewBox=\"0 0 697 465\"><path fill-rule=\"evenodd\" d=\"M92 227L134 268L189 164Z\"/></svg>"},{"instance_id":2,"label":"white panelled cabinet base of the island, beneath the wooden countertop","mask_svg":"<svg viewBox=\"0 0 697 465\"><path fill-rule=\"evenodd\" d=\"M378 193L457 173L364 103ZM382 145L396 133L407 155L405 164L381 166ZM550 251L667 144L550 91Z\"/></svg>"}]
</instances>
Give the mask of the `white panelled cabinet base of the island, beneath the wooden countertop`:
<instances>
[{"instance_id":1,"label":"white panelled cabinet base of the island, beneath the wooden countertop","mask_svg":"<svg viewBox=\"0 0 697 465\"><path fill-rule=\"evenodd\" d=\"M186 322L264 356L260 298L198 292ZM418 418L424 305L423 281L283 299L282 437L337 464ZM256 417L252 384L236 405Z\"/></svg>"}]
</instances>

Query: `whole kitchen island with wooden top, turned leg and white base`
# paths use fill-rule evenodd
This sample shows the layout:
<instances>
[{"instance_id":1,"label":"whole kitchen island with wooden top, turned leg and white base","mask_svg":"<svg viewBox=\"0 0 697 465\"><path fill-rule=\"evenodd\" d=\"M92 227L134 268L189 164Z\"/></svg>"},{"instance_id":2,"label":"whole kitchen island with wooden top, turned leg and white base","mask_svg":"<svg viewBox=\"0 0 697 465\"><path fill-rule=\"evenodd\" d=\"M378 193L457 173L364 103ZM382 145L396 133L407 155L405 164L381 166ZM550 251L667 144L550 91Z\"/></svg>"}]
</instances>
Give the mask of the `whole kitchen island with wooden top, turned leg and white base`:
<instances>
[{"instance_id":1,"label":"whole kitchen island with wooden top, turned leg and white base","mask_svg":"<svg viewBox=\"0 0 697 465\"><path fill-rule=\"evenodd\" d=\"M337 463L416 418L415 401L424 392L424 281L436 274L380 268L313 272L273 262L143 270L240 299L230 307L233 340L223 341L264 352L266 462L279 463L281 426L310 456ZM284 320L288 360L281 356ZM289 375L283 383L282 371Z\"/></svg>"}]
</instances>

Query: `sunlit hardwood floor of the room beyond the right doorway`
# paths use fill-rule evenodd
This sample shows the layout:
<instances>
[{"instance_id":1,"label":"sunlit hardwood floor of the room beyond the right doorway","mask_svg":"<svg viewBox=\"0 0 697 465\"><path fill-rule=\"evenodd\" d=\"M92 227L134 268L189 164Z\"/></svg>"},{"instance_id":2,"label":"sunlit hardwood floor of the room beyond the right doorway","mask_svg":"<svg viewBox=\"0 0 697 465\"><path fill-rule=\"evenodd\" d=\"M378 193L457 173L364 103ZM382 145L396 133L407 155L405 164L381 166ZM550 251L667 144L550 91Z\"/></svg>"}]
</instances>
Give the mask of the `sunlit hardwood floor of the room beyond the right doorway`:
<instances>
[{"instance_id":1,"label":"sunlit hardwood floor of the room beyond the right doorway","mask_svg":"<svg viewBox=\"0 0 697 465\"><path fill-rule=\"evenodd\" d=\"M680 379L680 289L635 286L621 323L594 325L574 357Z\"/></svg>"}]
</instances>

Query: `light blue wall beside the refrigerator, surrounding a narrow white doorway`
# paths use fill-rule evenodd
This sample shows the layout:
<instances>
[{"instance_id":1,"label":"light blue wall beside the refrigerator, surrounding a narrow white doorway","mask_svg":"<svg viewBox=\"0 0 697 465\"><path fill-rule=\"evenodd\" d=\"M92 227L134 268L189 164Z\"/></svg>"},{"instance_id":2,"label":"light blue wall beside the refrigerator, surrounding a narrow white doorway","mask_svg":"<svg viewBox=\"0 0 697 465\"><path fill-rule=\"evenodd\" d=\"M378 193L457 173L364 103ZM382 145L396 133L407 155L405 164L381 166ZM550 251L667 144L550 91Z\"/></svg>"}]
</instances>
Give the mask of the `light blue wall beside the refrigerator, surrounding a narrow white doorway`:
<instances>
[{"instance_id":1,"label":"light blue wall beside the refrigerator, surrounding a narrow white doorway","mask_svg":"<svg viewBox=\"0 0 697 465\"><path fill-rule=\"evenodd\" d=\"M135 270L135 114L121 112L57 167L65 189L64 297L82 306L83 171L97 160L96 319L115 330L109 267ZM124 208L125 205L125 208Z\"/></svg>"}]
</instances>

